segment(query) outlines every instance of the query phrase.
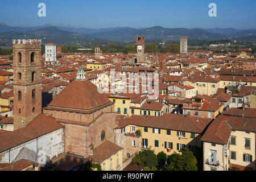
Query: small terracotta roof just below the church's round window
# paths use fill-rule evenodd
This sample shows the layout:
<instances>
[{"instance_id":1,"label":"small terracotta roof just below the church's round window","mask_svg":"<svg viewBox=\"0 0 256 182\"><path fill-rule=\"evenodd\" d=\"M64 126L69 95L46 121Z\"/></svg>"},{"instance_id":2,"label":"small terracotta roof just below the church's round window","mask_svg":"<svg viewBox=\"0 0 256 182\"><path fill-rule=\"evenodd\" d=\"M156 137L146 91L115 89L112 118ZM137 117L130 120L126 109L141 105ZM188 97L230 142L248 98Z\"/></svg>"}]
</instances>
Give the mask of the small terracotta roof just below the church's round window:
<instances>
[{"instance_id":1,"label":"small terracotta roof just below the church's round window","mask_svg":"<svg viewBox=\"0 0 256 182\"><path fill-rule=\"evenodd\" d=\"M105 159L109 159L112 155L117 154L119 150L122 150L117 144L106 140L93 149L93 156L91 156L94 162L102 163Z\"/></svg>"}]
</instances>

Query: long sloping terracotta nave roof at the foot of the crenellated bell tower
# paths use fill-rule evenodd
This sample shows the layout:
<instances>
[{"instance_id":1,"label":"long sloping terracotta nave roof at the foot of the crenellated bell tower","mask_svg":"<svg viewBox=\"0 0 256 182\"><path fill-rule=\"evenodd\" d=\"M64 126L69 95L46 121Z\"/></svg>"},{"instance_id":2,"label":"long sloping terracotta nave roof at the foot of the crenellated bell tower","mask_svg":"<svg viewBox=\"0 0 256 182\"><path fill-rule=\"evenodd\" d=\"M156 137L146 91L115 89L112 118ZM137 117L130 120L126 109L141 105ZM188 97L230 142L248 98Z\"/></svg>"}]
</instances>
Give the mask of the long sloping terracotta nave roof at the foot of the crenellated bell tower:
<instances>
[{"instance_id":1,"label":"long sloping terracotta nave roof at the foot of the crenellated bell tower","mask_svg":"<svg viewBox=\"0 0 256 182\"><path fill-rule=\"evenodd\" d=\"M0 133L0 152L64 127L55 119L44 114L38 115L27 127L8 133Z\"/></svg>"}]
</instances>

